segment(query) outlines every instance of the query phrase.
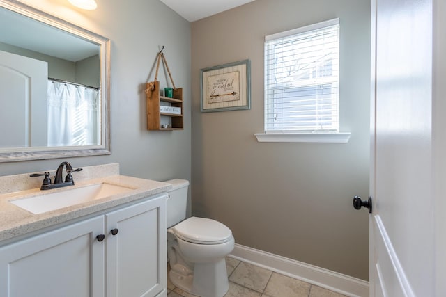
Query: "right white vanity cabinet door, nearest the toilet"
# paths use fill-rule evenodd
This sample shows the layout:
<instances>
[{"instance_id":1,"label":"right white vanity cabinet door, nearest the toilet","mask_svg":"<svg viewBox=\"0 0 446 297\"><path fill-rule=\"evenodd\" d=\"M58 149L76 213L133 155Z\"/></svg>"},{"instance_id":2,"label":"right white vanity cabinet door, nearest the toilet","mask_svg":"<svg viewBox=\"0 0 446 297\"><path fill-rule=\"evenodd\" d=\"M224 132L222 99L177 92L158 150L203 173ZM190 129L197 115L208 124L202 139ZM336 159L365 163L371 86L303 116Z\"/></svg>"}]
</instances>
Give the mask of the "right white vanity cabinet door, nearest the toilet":
<instances>
[{"instance_id":1,"label":"right white vanity cabinet door, nearest the toilet","mask_svg":"<svg viewBox=\"0 0 446 297\"><path fill-rule=\"evenodd\" d=\"M166 195L105 216L107 297L156 296L167 287Z\"/></svg>"}]
</instances>

